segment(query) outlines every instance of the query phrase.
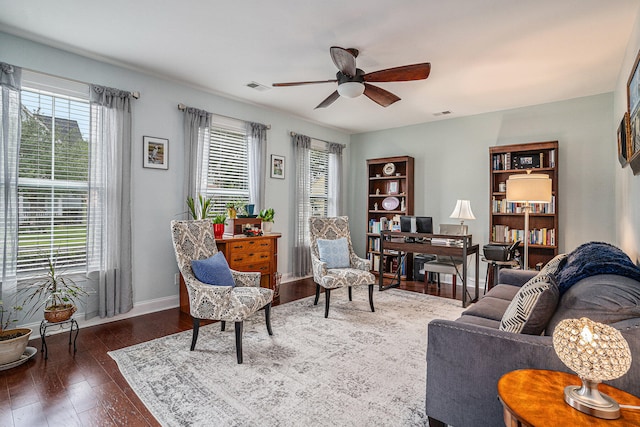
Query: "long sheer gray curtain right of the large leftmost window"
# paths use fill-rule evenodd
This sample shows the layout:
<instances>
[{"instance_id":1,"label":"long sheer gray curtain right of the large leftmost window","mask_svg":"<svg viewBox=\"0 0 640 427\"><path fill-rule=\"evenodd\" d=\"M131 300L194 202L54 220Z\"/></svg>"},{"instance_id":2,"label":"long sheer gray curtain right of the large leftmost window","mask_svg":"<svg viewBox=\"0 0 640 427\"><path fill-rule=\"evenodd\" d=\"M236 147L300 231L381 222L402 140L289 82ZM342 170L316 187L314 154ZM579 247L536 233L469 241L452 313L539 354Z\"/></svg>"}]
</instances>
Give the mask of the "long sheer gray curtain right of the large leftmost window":
<instances>
[{"instance_id":1,"label":"long sheer gray curtain right of the large leftmost window","mask_svg":"<svg viewBox=\"0 0 640 427\"><path fill-rule=\"evenodd\" d=\"M131 93L91 85L87 318L133 308Z\"/></svg>"}]
</instances>

